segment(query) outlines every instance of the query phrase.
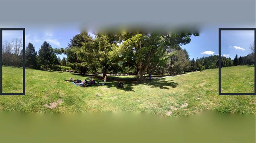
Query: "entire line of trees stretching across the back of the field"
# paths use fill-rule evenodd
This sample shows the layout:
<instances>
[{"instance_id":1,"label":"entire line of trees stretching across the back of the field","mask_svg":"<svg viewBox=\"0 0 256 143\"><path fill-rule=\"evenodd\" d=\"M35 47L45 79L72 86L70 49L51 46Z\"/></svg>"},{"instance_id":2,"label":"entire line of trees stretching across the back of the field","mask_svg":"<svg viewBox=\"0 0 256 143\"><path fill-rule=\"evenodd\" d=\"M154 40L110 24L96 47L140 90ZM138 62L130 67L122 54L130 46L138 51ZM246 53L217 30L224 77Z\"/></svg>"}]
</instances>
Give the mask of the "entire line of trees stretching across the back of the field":
<instances>
[{"instance_id":1,"label":"entire line of trees stretching across the back of the field","mask_svg":"<svg viewBox=\"0 0 256 143\"><path fill-rule=\"evenodd\" d=\"M40 70L73 70L81 75L85 73L115 75L137 75L138 81L144 81L145 74L180 74L205 69L218 68L219 56L193 58L190 60L187 50L181 46L190 43L191 35L199 33L94 33L93 38L87 32L81 32L70 39L66 48L52 48L44 42L37 52L32 43L26 47L25 65ZM14 43L6 43L3 50L3 63L22 66L22 50L16 52ZM254 50L254 44L250 46ZM17 54L18 53L18 54ZM20 54L19 54L20 53ZM66 54L67 59L57 57ZM11 56L10 56L11 55ZM18 56L17 56L18 55ZM5 56L5 60L4 60ZM253 57L253 58L252 58ZM12 60L8 60L12 58ZM16 59L16 60L15 60ZM10 63L8 63L8 61ZM247 56L231 58L221 57L221 67L254 64L254 51Z\"/></svg>"}]
</instances>

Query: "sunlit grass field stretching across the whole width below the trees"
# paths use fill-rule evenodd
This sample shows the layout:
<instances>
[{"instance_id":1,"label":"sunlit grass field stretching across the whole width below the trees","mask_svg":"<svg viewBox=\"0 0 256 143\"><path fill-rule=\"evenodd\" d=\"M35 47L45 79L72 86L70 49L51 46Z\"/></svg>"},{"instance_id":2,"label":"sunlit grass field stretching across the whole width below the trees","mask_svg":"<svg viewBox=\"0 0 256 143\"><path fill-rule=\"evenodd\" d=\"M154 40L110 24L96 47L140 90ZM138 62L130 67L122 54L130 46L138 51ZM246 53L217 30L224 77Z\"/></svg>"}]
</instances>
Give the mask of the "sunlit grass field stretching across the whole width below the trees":
<instances>
[{"instance_id":1,"label":"sunlit grass field stretching across the whole width below the trees","mask_svg":"<svg viewBox=\"0 0 256 143\"><path fill-rule=\"evenodd\" d=\"M230 73L230 70L236 68L223 68L222 72ZM244 69L245 72L254 71L254 66L238 68ZM21 72L22 68L3 67L3 71L10 73L8 78L13 78L11 77L15 75L13 73ZM225 75L223 73L222 75ZM254 78L254 75L248 74L248 76ZM132 77L109 76L107 85L95 87L79 87L73 85L72 82L66 82L71 77L80 80L88 79L88 76L82 77L75 73L26 69L26 95L0 96L0 110L24 112L127 111L150 112L163 116L189 115L202 110L255 113L255 96L218 95L218 69L153 79L144 84L136 83ZM102 82L102 79L98 77L92 75L96 82ZM236 77L228 77L230 80L232 78ZM118 81L124 82L124 89L116 88ZM3 82L5 85L6 81L3 80ZM56 108L45 107L45 104L49 105L59 99L62 102Z\"/></svg>"}]
</instances>

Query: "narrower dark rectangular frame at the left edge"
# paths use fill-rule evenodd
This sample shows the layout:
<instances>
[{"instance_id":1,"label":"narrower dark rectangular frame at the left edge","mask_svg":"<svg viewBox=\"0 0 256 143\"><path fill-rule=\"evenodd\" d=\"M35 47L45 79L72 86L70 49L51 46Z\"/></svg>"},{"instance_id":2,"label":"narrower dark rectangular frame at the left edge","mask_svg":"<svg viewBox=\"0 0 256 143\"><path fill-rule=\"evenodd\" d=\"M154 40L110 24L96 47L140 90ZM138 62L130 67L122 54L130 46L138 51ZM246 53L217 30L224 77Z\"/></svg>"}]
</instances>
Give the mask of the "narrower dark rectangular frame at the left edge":
<instances>
[{"instance_id":1,"label":"narrower dark rectangular frame at the left edge","mask_svg":"<svg viewBox=\"0 0 256 143\"><path fill-rule=\"evenodd\" d=\"M2 45L3 45L3 31L23 31L23 93L3 93L3 87L2 87L2 83L3 83L3 77L2 77ZM0 95L25 95L25 28L1 28L0 29Z\"/></svg>"}]
</instances>

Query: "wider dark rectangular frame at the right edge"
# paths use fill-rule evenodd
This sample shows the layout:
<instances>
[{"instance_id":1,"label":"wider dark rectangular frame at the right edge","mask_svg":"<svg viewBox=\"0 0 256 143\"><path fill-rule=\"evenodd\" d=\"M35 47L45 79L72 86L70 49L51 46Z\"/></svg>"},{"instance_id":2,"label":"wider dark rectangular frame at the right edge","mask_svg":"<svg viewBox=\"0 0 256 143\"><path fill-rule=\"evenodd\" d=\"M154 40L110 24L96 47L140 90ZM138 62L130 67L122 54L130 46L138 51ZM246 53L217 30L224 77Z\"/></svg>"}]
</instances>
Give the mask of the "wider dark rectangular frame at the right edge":
<instances>
[{"instance_id":1,"label":"wider dark rectangular frame at the right edge","mask_svg":"<svg viewBox=\"0 0 256 143\"><path fill-rule=\"evenodd\" d=\"M256 28L219 28L219 95L256 95L256 87L255 87L255 81L256 81L256 56L254 55L254 93L221 93L221 31L254 31L254 41L256 41ZM255 49L255 42L254 42L254 49Z\"/></svg>"}]
</instances>

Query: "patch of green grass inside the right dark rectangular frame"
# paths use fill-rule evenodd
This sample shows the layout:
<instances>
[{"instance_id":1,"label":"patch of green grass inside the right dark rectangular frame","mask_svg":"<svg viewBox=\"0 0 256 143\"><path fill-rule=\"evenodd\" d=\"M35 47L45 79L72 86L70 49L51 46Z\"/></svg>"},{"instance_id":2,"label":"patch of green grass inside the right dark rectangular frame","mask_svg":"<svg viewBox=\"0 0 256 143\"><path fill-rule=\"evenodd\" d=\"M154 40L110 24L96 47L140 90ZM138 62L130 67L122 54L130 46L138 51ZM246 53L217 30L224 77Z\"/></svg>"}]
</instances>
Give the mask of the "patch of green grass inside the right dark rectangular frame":
<instances>
[{"instance_id":1,"label":"patch of green grass inside the right dark rectangular frame","mask_svg":"<svg viewBox=\"0 0 256 143\"><path fill-rule=\"evenodd\" d=\"M254 93L254 66L221 68L221 93Z\"/></svg>"}]
</instances>

